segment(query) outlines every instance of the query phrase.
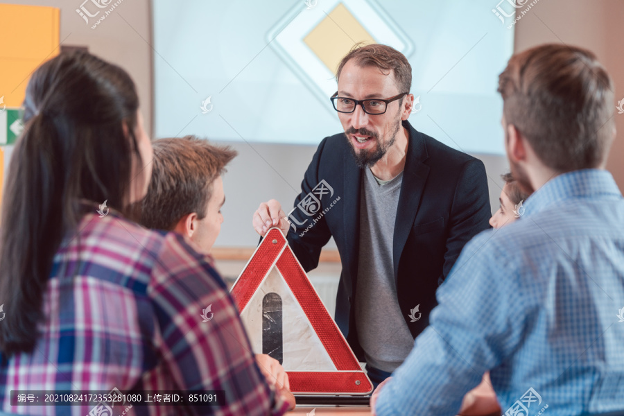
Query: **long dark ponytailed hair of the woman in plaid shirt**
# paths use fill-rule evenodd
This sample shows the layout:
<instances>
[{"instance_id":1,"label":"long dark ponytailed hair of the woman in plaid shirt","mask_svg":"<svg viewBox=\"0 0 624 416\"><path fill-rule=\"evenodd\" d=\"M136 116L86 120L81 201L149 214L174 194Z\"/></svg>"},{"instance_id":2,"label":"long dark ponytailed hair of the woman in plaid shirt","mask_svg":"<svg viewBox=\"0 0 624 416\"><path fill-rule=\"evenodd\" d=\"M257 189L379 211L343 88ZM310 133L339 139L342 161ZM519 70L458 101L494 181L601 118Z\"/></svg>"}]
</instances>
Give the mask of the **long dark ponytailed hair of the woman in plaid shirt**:
<instances>
[{"instance_id":1,"label":"long dark ponytailed hair of the woman in plaid shirt","mask_svg":"<svg viewBox=\"0 0 624 416\"><path fill-rule=\"evenodd\" d=\"M135 84L113 64L84 52L58 55L33 73L24 107L0 223L6 356L35 347L53 258L87 212L84 201L94 202L88 211L108 200L128 213L132 166L143 166Z\"/></svg>"}]
</instances>

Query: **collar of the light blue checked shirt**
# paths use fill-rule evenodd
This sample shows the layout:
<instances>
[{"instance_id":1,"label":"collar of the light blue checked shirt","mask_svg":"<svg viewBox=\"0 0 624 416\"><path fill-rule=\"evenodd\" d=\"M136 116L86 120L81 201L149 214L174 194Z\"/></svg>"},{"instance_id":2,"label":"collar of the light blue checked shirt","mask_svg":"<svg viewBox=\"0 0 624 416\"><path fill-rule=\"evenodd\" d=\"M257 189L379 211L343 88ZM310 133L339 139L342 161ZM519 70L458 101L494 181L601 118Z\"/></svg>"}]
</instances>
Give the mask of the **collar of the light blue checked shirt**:
<instances>
[{"instance_id":1,"label":"collar of the light blue checked shirt","mask_svg":"<svg viewBox=\"0 0 624 416\"><path fill-rule=\"evenodd\" d=\"M553 177L524 201L523 216L530 216L562 200L571 198L622 198L609 171L582 169Z\"/></svg>"}]
</instances>

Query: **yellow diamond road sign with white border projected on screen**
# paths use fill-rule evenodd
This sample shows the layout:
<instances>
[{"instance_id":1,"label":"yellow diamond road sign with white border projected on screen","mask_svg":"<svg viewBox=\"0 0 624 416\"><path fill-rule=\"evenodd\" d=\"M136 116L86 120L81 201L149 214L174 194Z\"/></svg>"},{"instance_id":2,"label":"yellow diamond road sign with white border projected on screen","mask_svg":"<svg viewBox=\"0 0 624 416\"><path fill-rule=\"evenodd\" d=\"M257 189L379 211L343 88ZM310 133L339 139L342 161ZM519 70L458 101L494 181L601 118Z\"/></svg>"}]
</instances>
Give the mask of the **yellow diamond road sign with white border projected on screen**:
<instances>
[{"instance_id":1,"label":"yellow diamond road sign with white border projected on screen","mask_svg":"<svg viewBox=\"0 0 624 416\"><path fill-rule=\"evenodd\" d=\"M375 0L318 0L309 8L301 1L273 26L268 41L322 103L336 92L336 69L355 44L386 44L408 57L414 49Z\"/></svg>"}]
</instances>

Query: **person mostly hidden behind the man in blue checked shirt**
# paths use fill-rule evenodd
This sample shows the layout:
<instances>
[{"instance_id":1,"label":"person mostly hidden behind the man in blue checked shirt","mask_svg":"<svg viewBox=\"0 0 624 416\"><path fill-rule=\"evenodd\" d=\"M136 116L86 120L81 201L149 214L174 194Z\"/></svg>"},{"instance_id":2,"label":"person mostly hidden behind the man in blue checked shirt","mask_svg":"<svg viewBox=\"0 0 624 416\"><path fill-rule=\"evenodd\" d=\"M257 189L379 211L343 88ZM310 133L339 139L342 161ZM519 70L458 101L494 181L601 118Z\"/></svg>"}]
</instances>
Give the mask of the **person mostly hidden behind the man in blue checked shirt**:
<instances>
[{"instance_id":1,"label":"person mostly hidden behind the man in blue checked shirt","mask_svg":"<svg viewBox=\"0 0 624 416\"><path fill-rule=\"evenodd\" d=\"M501 205L492 218L489 218L489 225L492 225L494 228L501 228L503 225L511 224L514 220L519 218L523 212L520 209L521 203L529 197L529 194L521 189L517 180L514 180L511 173L505 173L505 175L501 175L501 177L503 177L505 181L505 185L501 190L501 196L499 196ZM501 406L496 399L496 392L492 389L492 381L489 379L489 372L485 372L481 383L464 396L460 415L480 416L500 414Z\"/></svg>"}]
</instances>

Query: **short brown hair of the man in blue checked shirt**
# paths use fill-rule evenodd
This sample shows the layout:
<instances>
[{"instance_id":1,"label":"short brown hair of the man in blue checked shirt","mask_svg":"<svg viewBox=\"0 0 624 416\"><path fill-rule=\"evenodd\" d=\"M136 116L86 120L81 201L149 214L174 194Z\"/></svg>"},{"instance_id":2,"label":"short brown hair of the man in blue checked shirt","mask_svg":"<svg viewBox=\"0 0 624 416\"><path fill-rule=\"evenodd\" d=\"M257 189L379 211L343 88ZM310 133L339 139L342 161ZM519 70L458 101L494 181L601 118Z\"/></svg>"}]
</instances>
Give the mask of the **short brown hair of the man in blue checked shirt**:
<instances>
[{"instance_id":1,"label":"short brown hair of the man in blue checked shirt","mask_svg":"<svg viewBox=\"0 0 624 416\"><path fill-rule=\"evenodd\" d=\"M560 173L603 164L613 141L613 82L596 55L546 44L513 55L499 76L505 123Z\"/></svg>"}]
</instances>

